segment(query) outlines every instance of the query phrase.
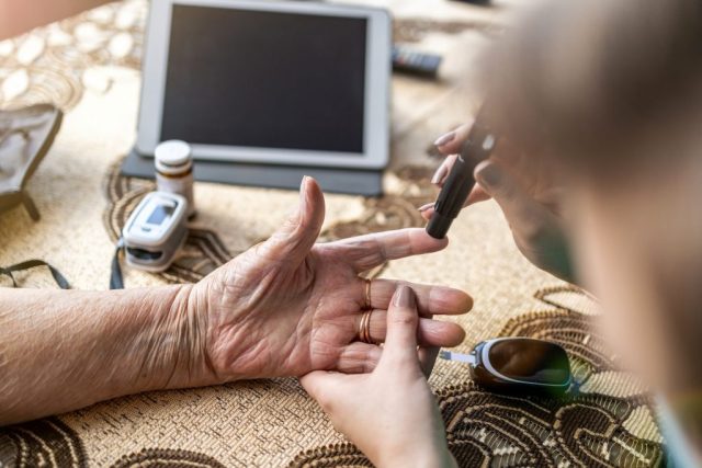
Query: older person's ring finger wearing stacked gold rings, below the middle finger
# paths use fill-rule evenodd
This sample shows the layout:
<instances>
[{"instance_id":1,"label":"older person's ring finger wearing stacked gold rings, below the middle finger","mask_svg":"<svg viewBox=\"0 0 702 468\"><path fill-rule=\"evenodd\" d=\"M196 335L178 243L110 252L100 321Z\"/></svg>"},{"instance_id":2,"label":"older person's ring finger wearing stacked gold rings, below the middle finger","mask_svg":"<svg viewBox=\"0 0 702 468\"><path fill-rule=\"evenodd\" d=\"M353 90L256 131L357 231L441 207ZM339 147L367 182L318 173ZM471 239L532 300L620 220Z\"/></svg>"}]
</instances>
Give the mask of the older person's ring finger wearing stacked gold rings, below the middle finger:
<instances>
[{"instance_id":1,"label":"older person's ring finger wearing stacked gold rings, below the middle finger","mask_svg":"<svg viewBox=\"0 0 702 468\"><path fill-rule=\"evenodd\" d=\"M410 288L411 289L411 288ZM355 330L361 327L361 316L355 318ZM369 323L371 340L376 343L385 341L387 334L387 311L374 309ZM419 319L417 342L420 346L457 346L465 339L465 331L457 323L439 320Z\"/></svg>"}]
</instances>

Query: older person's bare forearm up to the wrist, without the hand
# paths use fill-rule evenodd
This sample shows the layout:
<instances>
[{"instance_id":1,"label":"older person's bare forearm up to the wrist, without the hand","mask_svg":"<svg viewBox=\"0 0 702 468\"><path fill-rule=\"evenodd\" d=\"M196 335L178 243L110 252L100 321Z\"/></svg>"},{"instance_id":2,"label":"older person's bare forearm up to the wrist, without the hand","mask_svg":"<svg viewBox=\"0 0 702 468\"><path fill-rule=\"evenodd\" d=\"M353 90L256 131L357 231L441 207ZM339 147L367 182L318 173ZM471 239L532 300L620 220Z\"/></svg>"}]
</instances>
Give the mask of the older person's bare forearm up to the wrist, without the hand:
<instances>
[{"instance_id":1,"label":"older person's bare forearm up to the wrist, without the hand","mask_svg":"<svg viewBox=\"0 0 702 468\"><path fill-rule=\"evenodd\" d=\"M0 424L204 383L190 362L191 290L0 289Z\"/></svg>"}]
</instances>

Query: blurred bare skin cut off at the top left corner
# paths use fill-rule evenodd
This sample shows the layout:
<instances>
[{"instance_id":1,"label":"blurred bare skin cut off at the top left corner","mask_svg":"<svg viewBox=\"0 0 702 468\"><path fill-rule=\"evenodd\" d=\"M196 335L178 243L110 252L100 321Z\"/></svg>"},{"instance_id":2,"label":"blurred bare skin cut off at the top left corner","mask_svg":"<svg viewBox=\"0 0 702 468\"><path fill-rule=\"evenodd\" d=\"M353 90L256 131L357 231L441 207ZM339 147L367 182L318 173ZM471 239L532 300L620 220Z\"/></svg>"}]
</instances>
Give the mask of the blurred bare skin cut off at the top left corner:
<instances>
[{"instance_id":1,"label":"blurred bare skin cut off at the top left corner","mask_svg":"<svg viewBox=\"0 0 702 468\"><path fill-rule=\"evenodd\" d=\"M110 0L0 0L0 41L72 16Z\"/></svg>"}]
</instances>

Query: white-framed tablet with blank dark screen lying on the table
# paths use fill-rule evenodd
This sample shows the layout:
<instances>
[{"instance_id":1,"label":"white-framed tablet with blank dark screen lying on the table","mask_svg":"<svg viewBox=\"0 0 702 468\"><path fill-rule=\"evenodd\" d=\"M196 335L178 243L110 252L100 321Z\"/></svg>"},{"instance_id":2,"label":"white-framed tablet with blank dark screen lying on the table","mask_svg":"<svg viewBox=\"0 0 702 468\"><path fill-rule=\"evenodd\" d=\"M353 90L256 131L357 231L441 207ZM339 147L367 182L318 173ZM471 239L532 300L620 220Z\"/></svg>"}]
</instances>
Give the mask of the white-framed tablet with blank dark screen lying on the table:
<instances>
[{"instance_id":1,"label":"white-framed tablet with blank dark screen lying on the table","mask_svg":"<svg viewBox=\"0 0 702 468\"><path fill-rule=\"evenodd\" d=\"M385 10L251 0L150 8L137 153L182 139L196 160L386 165Z\"/></svg>"}]
</instances>

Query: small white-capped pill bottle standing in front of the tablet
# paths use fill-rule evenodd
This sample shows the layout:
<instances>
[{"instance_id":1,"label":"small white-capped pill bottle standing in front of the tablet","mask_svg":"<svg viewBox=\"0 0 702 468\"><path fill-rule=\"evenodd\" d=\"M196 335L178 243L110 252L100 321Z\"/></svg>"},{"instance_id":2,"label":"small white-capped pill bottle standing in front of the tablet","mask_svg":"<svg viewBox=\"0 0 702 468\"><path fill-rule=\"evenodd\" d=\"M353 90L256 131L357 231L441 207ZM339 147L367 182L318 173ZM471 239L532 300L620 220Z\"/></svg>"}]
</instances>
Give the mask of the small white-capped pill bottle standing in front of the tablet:
<instances>
[{"instance_id":1,"label":"small white-capped pill bottle standing in front of the tablet","mask_svg":"<svg viewBox=\"0 0 702 468\"><path fill-rule=\"evenodd\" d=\"M181 140L163 141L156 147L154 160L158 190L184 196L188 201L188 217L194 216L193 157L190 145Z\"/></svg>"}]
</instances>

